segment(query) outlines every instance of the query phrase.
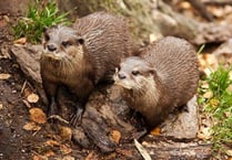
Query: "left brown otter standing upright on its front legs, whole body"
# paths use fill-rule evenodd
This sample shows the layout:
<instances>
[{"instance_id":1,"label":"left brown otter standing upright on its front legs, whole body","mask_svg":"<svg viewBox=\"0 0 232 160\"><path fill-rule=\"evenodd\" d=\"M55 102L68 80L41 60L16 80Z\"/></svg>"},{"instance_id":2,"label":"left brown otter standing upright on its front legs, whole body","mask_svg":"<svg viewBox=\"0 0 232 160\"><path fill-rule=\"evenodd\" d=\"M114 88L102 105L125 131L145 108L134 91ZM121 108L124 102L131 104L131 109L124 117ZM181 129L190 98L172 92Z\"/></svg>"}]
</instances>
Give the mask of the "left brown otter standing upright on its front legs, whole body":
<instances>
[{"instance_id":1,"label":"left brown otter standing upright on its front legs, whole body","mask_svg":"<svg viewBox=\"0 0 232 160\"><path fill-rule=\"evenodd\" d=\"M105 12L81 18L73 28L48 29L43 46L41 76L50 103L48 113L56 114L58 87L65 85L78 97L72 125L80 121L94 86L112 77L120 60L135 51L124 19Z\"/></svg>"}]
</instances>

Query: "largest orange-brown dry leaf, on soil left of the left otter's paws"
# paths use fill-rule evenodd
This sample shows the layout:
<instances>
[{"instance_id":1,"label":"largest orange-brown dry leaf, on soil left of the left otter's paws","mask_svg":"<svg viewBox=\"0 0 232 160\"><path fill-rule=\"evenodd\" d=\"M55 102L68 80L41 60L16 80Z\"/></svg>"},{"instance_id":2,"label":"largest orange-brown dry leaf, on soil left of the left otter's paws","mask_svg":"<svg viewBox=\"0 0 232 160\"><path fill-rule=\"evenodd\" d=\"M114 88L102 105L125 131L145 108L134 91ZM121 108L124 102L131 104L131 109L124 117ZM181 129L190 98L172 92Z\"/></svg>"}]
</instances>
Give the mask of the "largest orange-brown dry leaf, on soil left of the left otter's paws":
<instances>
[{"instance_id":1,"label":"largest orange-brown dry leaf, on soil left of the left otter's paws","mask_svg":"<svg viewBox=\"0 0 232 160\"><path fill-rule=\"evenodd\" d=\"M40 108L31 108L29 110L30 113L30 119L34 122L38 124L46 124L47 121L47 116Z\"/></svg>"}]
</instances>

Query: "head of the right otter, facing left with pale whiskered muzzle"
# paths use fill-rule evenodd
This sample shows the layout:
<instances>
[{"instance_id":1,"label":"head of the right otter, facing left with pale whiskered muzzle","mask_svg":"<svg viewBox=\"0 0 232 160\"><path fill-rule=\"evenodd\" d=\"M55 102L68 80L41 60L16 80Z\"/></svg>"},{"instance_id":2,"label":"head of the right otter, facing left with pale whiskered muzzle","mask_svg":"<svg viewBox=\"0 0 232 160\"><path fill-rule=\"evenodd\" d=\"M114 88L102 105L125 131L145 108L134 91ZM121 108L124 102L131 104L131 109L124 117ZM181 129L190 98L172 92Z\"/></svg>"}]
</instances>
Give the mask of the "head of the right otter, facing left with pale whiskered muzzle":
<instances>
[{"instance_id":1,"label":"head of the right otter, facing left with pale whiskered muzzle","mask_svg":"<svg viewBox=\"0 0 232 160\"><path fill-rule=\"evenodd\" d=\"M155 71L141 57L131 56L125 58L120 67L115 70L113 79L117 85L125 89L143 90L151 83L154 83Z\"/></svg>"}]
</instances>

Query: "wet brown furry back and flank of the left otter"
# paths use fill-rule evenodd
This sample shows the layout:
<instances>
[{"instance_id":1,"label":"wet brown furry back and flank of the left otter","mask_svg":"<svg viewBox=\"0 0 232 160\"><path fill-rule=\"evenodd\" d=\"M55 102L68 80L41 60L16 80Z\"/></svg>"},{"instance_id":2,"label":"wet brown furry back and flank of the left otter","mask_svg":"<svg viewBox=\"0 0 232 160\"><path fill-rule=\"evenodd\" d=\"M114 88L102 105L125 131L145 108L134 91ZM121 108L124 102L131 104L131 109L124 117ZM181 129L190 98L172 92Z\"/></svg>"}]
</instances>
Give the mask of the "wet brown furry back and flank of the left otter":
<instances>
[{"instance_id":1,"label":"wet brown furry back and flank of the left otter","mask_svg":"<svg viewBox=\"0 0 232 160\"><path fill-rule=\"evenodd\" d=\"M105 12L95 12L78 19L73 29L78 36L84 40L84 45L95 70L95 82L111 78L120 60L137 50L123 18Z\"/></svg>"}]
</instances>

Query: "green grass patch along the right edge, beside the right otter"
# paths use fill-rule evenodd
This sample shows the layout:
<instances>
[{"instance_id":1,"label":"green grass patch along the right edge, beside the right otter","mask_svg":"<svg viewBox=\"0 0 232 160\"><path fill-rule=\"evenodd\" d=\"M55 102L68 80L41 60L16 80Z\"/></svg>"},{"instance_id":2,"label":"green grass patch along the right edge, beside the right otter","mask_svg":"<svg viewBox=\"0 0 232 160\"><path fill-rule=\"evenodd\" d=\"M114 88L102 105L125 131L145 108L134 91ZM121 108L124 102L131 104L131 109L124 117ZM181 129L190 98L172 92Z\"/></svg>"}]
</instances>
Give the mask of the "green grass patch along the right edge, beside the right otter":
<instances>
[{"instance_id":1,"label":"green grass patch along the right edge, beside the right otter","mask_svg":"<svg viewBox=\"0 0 232 160\"><path fill-rule=\"evenodd\" d=\"M212 115L212 141L214 151L226 152L225 147L232 147L232 67L220 66L206 78L208 90L200 90L200 102L204 110ZM211 92L212 97L204 98L202 95ZM204 99L204 100L202 100Z\"/></svg>"}]
</instances>

